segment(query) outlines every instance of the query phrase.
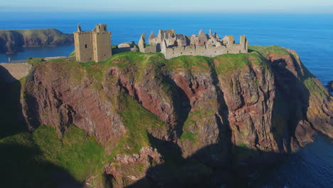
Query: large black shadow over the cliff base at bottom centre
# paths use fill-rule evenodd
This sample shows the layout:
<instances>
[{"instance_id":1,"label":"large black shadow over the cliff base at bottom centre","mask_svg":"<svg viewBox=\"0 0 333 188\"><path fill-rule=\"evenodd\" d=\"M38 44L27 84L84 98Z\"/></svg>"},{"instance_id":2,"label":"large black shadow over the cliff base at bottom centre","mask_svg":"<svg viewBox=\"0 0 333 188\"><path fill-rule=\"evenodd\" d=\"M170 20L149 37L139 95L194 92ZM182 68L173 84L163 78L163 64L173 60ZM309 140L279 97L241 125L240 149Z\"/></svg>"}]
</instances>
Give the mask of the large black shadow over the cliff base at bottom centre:
<instances>
[{"instance_id":1,"label":"large black shadow over the cliff base at bottom centre","mask_svg":"<svg viewBox=\"0 0 333 188\"><path fill-rule=\"evenodd\" d=\"M209 145L184 159L181 148L174 142L159 140L149 135L153 147L163 156L164 162L147 169L146 176L127 188L136 187L251 187L254 172L273 165L281 155L273 152L258 152L233 145L231 159L225 167L215 167L203 162L203 153L208 155L216 145ZM253 155L253 157L249 157ZM254 157L255 156L255 157ZM249 160L250 159L250 160ZM223 160L223 159L222 159Z\"/></svg>"}]
</instances>

